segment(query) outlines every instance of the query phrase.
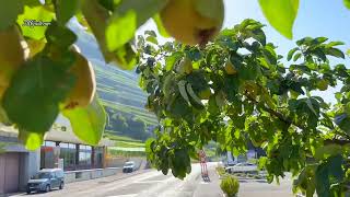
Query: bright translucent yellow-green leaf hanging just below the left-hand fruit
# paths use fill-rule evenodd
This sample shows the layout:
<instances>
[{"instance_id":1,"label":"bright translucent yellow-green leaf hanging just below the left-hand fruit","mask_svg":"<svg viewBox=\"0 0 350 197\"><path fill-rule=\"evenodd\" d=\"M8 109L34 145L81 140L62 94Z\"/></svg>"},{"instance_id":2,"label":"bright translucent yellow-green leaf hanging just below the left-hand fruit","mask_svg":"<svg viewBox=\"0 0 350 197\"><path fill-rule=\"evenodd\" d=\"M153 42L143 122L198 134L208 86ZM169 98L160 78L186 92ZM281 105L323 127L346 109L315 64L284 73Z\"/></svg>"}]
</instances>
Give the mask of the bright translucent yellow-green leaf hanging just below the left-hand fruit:
<instances>
[{"instance_id":1,"label":"bright translucent yellow-green leaf hanging just below the left-hand fruit","mask_svg":"<svg viewBox=\"0 0 350 197\"><path fill-rule=\"evenodd\" d=\"M79 139L89 144L98 144L106 124L106 113L100 104L97 96L86 107L62 111Z\"/></svg>"}]
</instances>

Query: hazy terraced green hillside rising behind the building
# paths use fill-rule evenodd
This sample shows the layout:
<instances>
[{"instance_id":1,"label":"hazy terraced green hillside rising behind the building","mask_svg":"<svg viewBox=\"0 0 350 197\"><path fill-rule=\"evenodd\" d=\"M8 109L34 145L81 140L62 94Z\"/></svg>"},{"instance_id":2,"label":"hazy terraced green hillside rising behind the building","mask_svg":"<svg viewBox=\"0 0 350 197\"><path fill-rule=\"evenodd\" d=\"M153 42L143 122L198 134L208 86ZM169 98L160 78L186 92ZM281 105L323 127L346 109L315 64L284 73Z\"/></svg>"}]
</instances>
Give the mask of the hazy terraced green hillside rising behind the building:
<instances>
[{"instance_id":1,"label":"hazy terraced green hillside rising behind the building","mask_svg":"<svg viewBox=\"0 0 350 197\"><path fill-rule=\"evenodd\" d=\"M144 109L147 95L138 86L138 76L133 71L106 65L95 38L74 23L69 26L78 35L75 44L94 67L97 93L108 113L108 136L128 136L139 140L150 137L151 128L158 120L152 113Z\"/></svg>"}]
</instances>

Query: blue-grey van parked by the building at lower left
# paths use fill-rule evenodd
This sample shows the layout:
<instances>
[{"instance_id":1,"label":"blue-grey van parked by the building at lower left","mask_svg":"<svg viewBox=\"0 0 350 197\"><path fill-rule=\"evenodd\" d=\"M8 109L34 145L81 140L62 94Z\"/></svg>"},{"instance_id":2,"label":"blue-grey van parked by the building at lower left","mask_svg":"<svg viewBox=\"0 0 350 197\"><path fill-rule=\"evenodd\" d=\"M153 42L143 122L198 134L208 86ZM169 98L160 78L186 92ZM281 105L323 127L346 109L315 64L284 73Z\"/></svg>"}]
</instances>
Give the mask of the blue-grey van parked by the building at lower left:
<instances>
[{"instance_id":1,"label":"blue-grey van parked by the building at lower left","mask_svg":"<svg viewBox=\"0 0 350 197\"><path fill-rule=\"evenodd\" d=\"M36 173L27 183L26 193L45 192L52 188L62 189L65 186L65 173L61 169L44 169Z\"/></svg>"}]
</instances>

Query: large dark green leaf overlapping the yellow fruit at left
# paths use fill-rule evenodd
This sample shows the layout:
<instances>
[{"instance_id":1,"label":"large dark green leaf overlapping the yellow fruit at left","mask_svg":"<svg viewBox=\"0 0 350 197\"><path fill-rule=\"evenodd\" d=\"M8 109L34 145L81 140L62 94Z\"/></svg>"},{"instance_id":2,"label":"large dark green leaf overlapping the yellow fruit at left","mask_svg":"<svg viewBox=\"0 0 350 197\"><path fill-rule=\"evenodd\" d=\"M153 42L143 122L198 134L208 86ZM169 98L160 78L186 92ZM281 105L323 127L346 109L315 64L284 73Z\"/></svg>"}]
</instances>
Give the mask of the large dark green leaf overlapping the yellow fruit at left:
<instances>
[{"instance_id":1,"label":"large dark green leaf overlapping the yellow fruit at left","mask_svg":"<svg viewBox=\"0 0 350 197\"><path fill-rule=\"evenodd\" d=\"M59 114L59 103L71 90L74 78L61 62L35 56L12 79L3 97L9 119L24 130L48 131Z\"/></svg>"}]
</instances>

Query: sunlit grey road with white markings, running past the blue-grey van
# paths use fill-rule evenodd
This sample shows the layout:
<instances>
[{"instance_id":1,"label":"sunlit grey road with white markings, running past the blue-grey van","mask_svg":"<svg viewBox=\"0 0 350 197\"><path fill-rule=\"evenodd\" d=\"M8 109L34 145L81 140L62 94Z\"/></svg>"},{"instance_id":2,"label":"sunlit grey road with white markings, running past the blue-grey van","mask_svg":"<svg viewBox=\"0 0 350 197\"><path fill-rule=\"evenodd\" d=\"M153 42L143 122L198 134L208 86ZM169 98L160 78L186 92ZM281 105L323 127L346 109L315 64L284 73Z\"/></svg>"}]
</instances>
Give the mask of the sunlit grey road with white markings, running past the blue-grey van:
<instances>
[{"instance_id":1,"label":"sunlit grey road with white markings, running past the blue-grey van","mask_svg":"<svg viewBox=\"0 0 350 197\"><path fill-rule=\"evenodd\" d=\"M214 164L210 165L214 173ZM214 174L212 174L214 176ZM62 190L52 190L47 194L32 194L33 197L207 197L202 194L206 187L200 175L199 165L192 165L192 172L184 181L174 178L171 174L164 176L154 170L136 172L127 175L93 179L67 184ZM219 185L214 185L215 195L208 197L222 197ZM16 196L27 196L20 194Z\"/></svg>"}]
</instances>

